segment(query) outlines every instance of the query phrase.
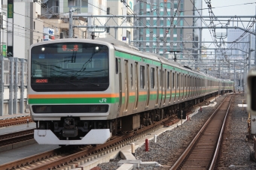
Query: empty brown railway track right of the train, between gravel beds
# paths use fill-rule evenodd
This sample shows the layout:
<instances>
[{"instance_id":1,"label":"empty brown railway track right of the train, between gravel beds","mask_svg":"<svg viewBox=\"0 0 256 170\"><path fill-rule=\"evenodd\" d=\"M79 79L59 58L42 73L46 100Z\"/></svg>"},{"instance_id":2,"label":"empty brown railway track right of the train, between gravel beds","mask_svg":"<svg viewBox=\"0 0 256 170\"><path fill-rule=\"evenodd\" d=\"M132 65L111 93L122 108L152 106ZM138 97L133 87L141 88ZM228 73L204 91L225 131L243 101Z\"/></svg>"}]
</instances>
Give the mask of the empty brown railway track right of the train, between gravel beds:
<instances>
[{"instance_id":1,"label":"empty brown railway track right of the train, between gravel beds","mask_svg":"<svg viewBox=\"0 0 256 170\"><path fill-rule=\"evenodd\" d=\"M175 163L168 163L172 165L170 170L214 169L231 101L232 96L227 96L190 142L181 157Z\"/></svg>"}]
</instances>

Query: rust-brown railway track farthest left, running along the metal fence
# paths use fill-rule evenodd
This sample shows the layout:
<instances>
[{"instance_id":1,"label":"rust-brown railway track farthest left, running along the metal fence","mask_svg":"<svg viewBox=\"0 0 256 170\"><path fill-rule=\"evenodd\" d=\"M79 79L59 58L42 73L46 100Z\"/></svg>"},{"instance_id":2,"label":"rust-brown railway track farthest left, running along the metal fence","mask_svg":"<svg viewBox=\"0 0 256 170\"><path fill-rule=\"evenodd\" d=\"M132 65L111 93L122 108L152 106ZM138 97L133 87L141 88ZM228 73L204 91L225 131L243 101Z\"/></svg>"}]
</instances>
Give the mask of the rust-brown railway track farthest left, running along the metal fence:
<instances>
[{"instance_id":1,"label":"rust-brown railway track farthest left, running along the metal fence","mask_svg":"<svg viewBox=\"0 0 256 170\"><path fill-rule=\"evenodd\" d=\"M32 122L30 116L20 118L8 118L5 120L0 120L0 127L9 127L17 124L27 124L28 121Z\"/></svg>"}]
</instances>

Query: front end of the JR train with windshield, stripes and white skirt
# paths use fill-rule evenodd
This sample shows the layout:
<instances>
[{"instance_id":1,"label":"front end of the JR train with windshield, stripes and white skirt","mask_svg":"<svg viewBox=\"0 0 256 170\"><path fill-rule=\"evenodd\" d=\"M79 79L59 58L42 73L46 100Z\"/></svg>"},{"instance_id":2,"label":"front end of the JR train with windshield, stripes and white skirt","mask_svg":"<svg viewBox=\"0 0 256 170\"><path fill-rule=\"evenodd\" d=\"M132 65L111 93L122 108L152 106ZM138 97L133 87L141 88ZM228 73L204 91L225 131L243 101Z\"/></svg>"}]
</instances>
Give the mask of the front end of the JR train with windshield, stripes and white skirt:
<instances>
[{"instance_id":1,"label":"front end of the JR train with windshield, stripes and white skirt","mask_svg":"<svg viewBox=\"0 0 256 170\"><path fill-rule=\"evenodd\" d=\"M47 145L96 145L110 137L110 46L62 39L31 46L28 103Z\"/></svg>"}]
</instances>

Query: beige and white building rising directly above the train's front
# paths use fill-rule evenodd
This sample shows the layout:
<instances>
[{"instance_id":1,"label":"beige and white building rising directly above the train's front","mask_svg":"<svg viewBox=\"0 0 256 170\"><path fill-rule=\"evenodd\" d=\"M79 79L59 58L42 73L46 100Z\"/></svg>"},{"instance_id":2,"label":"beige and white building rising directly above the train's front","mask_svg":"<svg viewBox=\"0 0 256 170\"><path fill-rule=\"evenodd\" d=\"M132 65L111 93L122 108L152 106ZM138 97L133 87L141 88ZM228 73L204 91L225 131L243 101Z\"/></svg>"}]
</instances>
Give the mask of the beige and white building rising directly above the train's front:
<instances>
[{"instance_id":1,"label":"beige and white building rising directly above the train's front","mask_svg":"<svg viewBox=\"0 0 256 170\"><path fill-rule=\"evenodd\" d=\"M39 2L40 3L40 2ZM59 37L63 32L64 37L69 35L69 13L71 10L74 15L81 13L84 15L106 15L106 0L42 0L41 16L44 20L44 27L53 28L54 36ZM95 28L73 28L73 36L78 38L90 38L92 32L96 37L106 37L105 29L96 28L97 25L105 23L104 17L99 19L87 19L79 17L73 19L72 25L94 25Z\"/></svg>"}]
</instances>

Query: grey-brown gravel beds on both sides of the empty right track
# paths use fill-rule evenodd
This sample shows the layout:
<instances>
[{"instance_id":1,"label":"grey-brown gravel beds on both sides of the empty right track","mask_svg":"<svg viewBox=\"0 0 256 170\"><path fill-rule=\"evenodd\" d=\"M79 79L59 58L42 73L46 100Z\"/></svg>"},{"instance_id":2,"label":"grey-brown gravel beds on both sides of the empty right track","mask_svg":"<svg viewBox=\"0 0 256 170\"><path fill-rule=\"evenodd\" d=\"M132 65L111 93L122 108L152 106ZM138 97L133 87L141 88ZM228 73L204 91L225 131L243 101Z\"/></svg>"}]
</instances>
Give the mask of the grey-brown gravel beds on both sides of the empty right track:
<instances>
[{"instance_id":1,"label":"grey-brown gravel beds on both sides of the empty right track","mask_svg":"<svg viewBox=\"0 0 256 170\"><path fill-rule=\"evenodd\" d=\"M228 133L224 135L225 141L221 148L222 152L218 169L256 169L256 163L251 161L249 157L252 142L245 141L248 115L245 110L242 111L237 106L237 104L242 103L244 98L243 94L233 97L234 103L231 107L228 119L229 124L227 125ZM167 130L165 133L157 136L157 143L154 143L153 140L150 141L150 151L145 152L145 145L136 149L136 160L142 160L142 162L154 161L165 167L145 166L136 169L169 169L170 165L178 159L176 154L181 154L184 151L188 143L194 138L222 100L224 100L224 96L218 97L217 105L203 108L203 112L198 112L192 117L191 121L185 121L182 126L175 127L173 130ZM119 160L120 157L117 157L110 160L109 163L99 164L98 167L102 170L118 169L117 163Z\"/></svg>"}]
</instances>

